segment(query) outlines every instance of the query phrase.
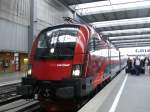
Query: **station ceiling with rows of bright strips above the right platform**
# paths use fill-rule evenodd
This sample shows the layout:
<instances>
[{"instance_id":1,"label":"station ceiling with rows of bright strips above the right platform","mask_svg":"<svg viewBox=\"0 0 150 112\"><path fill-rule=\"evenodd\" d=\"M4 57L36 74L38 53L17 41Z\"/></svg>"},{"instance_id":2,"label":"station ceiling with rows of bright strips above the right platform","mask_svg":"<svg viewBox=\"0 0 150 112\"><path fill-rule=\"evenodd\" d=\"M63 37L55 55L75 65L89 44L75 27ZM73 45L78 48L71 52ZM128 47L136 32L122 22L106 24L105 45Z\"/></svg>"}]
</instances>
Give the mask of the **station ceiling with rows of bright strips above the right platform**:
<instances>
[{"instance_id":1,"label":"station ceiling with rows of bright strips above the right platform","mask_svg":"<svg viewBox=\"0 0 150 112\"><path fill-rule=\"evenodd\" d=\"M150 46L150 0L59 0L117 48Z\"/></svg>"}]
</instances>

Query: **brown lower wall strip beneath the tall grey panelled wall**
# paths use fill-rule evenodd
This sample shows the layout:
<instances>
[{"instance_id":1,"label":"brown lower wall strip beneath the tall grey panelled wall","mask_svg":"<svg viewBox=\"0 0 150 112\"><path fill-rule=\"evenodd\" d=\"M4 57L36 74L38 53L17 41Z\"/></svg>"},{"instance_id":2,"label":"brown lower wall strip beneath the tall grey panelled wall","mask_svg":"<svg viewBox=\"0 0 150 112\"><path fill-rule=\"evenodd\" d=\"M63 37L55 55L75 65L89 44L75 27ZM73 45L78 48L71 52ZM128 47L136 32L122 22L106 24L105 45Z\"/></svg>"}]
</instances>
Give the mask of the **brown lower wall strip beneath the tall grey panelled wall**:
<instances>
[{"instance_id":1,"label":"brown lower wall strip beneath the tall grey panelled wall","mask_svg":"<svg viewBox=\"0 0 150 112\"><path fill-rule=\"evenodd\" d=\"M27 53L0 52L0 73L3 72L25 72L27 64L24 60L28 58Z\"/></svg>"}]
</instances>

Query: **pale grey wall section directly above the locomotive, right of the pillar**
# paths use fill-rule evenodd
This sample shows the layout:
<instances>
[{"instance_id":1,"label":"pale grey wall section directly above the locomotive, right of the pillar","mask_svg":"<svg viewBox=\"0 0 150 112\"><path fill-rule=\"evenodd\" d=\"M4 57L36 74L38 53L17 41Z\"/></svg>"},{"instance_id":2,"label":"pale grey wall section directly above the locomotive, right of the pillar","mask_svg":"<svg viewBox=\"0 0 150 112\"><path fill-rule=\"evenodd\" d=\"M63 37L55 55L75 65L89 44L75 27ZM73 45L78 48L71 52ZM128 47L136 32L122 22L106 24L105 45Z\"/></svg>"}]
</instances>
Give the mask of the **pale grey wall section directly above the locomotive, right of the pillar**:
<instances>
[{"instance_id":1,"label":"pale grey wall section directly above the locomotive, right of the pillar","mask_svg":"<svg viewBox=\"0 0 150 112\"><path fill-rule=\"evenodd\" d=\"M71 11L57 0L37 0L35 4L36 34L46 27L63 24L63 17L73 17Z\"/></svg>"}]
</instances>

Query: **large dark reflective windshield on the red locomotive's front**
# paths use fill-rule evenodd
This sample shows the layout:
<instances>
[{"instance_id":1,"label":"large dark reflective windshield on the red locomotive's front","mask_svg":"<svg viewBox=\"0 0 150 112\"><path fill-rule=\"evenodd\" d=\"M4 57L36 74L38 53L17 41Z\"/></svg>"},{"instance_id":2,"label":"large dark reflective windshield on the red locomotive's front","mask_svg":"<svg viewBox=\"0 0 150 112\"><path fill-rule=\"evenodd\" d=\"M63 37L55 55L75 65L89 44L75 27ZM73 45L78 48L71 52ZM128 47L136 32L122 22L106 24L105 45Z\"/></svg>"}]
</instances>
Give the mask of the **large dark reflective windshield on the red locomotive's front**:
<instances>
[{"instance_id":1,"label":"large dark reflective windshield on the red locomotive's front","mask_svg":"<svg viewBox=\"0 0 150 112\"><path fill-rule=\"evenodd\" d=\"M78 28L59 28L40 35L37 58L73 58L77 42Z\"/></svg>"}]
</instances>

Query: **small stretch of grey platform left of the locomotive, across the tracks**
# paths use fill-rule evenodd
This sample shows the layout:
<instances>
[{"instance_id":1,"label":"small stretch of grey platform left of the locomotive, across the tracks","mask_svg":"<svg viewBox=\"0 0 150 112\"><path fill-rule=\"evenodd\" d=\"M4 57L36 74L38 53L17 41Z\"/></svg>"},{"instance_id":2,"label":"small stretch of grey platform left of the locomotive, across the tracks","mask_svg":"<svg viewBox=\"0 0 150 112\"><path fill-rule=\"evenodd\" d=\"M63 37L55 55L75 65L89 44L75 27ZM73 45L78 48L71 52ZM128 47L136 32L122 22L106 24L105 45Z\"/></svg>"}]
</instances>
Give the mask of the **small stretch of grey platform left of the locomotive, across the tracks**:
<instances>
[{"instance_id":1,"label":"small stretch of grey platform left of the locomotive, across the tracks","mask_svg":"<svg viewBox=\"0 0 150 112\"><path fill-rule=\"evenodd\" d=\"M21 81L24 75L24 72L0 73L0 84Z\"/></svg>"}]
</instances>

